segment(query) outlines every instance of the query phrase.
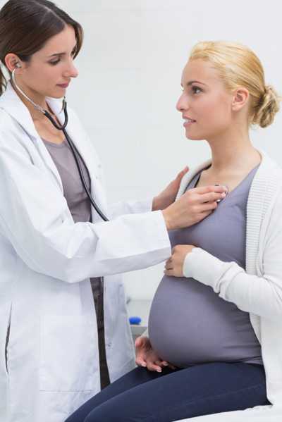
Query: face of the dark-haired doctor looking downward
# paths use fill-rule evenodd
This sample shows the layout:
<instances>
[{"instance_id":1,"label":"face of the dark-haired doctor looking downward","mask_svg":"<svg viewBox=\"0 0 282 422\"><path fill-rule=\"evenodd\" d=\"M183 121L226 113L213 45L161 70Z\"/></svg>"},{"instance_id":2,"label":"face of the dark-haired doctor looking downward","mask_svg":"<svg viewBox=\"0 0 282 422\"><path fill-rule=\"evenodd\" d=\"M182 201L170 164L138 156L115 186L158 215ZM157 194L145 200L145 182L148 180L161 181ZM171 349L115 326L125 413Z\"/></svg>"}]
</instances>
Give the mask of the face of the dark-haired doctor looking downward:
<instances>
[{"instance_id":1,"label":"face of the dark-haired doctor looking downward","mask_svg":"<svg viewBox=\"0 0 282 422\"><path fill-rule=\"evenodd\" d=\"M68 25L33 54L29 62L20 63L22 68L16 71L16 81L33 97L63 97L71 79L78 76L73 65L75 46L75 32Z\"/></svg>"}]
</instances>

